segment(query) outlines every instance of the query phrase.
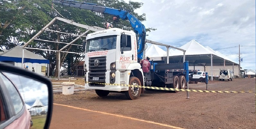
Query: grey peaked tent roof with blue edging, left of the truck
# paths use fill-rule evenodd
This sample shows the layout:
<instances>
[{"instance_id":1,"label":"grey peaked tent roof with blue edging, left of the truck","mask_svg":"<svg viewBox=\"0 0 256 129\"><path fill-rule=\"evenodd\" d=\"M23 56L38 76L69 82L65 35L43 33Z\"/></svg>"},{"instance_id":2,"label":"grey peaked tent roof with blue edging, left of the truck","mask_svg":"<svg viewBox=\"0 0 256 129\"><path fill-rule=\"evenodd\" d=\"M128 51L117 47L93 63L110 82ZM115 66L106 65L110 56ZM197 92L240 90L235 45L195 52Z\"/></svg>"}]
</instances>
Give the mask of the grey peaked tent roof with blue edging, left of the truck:
<instances>
[{"instance_id":1,"label":"grey peaked tent roof with blue edging, left of the truck","mask_svg":"<svg viewBox=\"0 0 256 129\"><path fill-rule=\"evenodd\" d=\"M8 51L4 51L0 54L0 61L3 62L22 62L22 47L16 46ZM49 64L50 61L45 58L24 49L24 63L39 63Z\"/></svg>"}]
</instances>

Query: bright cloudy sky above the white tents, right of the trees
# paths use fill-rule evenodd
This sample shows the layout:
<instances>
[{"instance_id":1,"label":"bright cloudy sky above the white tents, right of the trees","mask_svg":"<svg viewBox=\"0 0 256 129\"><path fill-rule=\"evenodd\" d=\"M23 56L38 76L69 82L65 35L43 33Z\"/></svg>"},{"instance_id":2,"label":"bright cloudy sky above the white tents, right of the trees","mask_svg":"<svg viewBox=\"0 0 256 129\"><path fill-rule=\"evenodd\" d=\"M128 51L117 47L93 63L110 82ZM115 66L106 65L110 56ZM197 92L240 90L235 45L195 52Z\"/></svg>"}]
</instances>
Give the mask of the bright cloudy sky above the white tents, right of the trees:
<instances>
[{"instance_id":1,"label":"bright cloudy sky above the white tents, right of the trees","mask_svg":"<svg viewBox=\"0 0 256 129\"><path fill-rule=\"evenodd\" d=\"M136 1L144 3L135 12L146 13L146 28L157 28L148 33L147 39L176 47L195 39L205 47L220 49L217 51L236 63L240 44L241 67L256 69L255 0Z\"/></svg>"}]
</instances>

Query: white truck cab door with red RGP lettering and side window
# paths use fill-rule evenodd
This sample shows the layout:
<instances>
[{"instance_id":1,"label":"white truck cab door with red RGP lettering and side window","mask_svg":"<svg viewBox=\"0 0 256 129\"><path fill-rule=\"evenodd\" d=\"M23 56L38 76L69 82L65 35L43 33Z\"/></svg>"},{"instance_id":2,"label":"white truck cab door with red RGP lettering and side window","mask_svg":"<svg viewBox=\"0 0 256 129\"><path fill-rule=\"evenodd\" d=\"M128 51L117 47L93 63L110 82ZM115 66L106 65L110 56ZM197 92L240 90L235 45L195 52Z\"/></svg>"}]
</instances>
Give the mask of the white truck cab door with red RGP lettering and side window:
<instances>
[{"instance_id":1,"label":"white truck cab door with red RGP lettering and side window","mask_svg":"<svg viewBox=\"0 0 256 129\"><path fill-rule=\"evenodd\" d=\"M122 35L127 36L127 44L122 44ZM132 49L132 35L129 33L122 34L120 38L120 69L127 69L130 63L134 61L133 49Z\"/></svg>"}]
</instances>

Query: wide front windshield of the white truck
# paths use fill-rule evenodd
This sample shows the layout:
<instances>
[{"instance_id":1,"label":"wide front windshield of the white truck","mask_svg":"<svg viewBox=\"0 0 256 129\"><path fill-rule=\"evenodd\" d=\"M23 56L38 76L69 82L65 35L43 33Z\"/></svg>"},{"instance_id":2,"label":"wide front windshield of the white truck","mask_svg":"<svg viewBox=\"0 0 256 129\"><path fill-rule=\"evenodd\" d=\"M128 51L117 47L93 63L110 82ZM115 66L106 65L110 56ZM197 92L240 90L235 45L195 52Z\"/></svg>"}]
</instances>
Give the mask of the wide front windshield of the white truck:
<instances>
[{"instance_id":1,"label":"wide front windshield of the white truck","mask_svg":"<svg viewBox=\"0 0 256 129\"><path fill-rule=\"evenodd\" d=\"M116 49L117 36L102 36L87 40L86 52Z\"/></svg>"}]
</instances>

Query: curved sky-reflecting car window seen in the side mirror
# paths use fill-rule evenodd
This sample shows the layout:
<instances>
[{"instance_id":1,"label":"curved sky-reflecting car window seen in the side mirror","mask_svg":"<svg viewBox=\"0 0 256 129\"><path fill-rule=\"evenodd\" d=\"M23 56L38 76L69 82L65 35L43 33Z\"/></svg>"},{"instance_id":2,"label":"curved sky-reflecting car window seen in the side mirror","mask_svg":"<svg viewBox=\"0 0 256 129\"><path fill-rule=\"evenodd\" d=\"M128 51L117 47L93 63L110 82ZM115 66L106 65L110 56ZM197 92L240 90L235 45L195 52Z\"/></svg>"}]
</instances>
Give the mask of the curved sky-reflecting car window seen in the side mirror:
<instances>
[{"instance_id":1,"label":"curved sky-reflecting car window seen in the side mirror","mask_svg":"<svg viewBox=\"0 0 256 129\"><path fill-rule=\"evenodd\" d=\"M13 85L13 83L7 77L5 77L1 73L0 73L0 77L3 79L6 89L10 94L10 98L13 102L13 108L14 108L15 114L18 114L23 107L21 96L18 93L18 90Z\"/></svg>"}]
</instances>

